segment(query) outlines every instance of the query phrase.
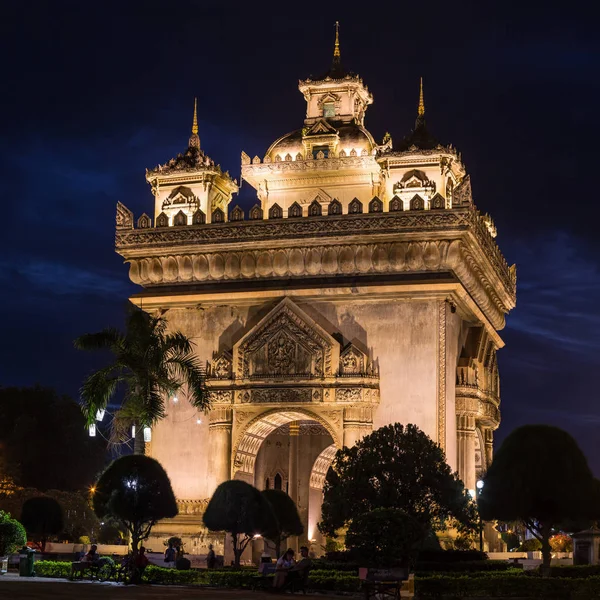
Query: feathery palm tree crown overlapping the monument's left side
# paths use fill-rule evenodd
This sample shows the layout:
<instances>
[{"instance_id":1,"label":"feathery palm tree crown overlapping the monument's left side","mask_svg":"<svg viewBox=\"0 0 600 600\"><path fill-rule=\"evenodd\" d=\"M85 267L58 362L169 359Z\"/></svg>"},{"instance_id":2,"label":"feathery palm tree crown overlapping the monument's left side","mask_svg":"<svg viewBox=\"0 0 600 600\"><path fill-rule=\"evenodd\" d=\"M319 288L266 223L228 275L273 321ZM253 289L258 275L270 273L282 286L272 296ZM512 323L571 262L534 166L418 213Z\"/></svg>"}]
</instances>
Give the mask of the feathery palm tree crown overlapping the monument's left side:
<instances>
[{"instance_id":1,"label":"feathery palm tree crown overlapping the monument's left side","mask_svg":"<svg viewBox=\"0 0 600 600\"><path fill-rule=\"evenodd\" d=\"M209 399L205 371L193 354L192 342L183 333L166 333L167 320L132 308L125 333L107 328L75 340L79 350L110 350L112 364L92 373L81 387L81 408L87 424L106 409L119 387L124 397L112 421L112 443L122 443L135 426L133 451L144 454L144 427L166 415L165 399L187 387L192 406L206 411Z\"/></svg>"}]
</instances>

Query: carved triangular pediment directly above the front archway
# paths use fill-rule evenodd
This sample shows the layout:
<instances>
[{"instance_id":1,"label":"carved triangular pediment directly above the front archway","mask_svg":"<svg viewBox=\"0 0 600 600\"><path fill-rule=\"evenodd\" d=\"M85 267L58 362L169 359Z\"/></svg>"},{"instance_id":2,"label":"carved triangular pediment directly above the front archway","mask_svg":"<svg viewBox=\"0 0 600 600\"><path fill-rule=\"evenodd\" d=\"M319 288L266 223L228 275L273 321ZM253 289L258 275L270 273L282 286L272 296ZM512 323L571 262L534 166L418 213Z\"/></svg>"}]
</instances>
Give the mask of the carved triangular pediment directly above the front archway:
<instances>
[{"instance_id":1,"label":"carved triangular pediment directly above the front archway","mask_svg":"<svg viewBox=\"0 0 600 600\"><path fill-rule=\"evenodd\" d=\"M334 375L339 344L289 298L233 349L236 378Z\"/></svg>"}]
</instances>

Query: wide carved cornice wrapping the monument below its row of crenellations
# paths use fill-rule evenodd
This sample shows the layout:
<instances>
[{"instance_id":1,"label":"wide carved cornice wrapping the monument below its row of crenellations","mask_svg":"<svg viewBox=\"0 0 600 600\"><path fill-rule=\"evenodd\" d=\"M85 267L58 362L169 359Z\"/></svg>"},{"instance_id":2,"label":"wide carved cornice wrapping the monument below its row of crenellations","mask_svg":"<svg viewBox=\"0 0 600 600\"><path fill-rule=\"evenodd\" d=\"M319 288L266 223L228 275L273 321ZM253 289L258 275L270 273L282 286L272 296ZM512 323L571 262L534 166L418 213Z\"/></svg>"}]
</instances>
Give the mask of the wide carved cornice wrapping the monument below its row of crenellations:
<instances>
[{"instance_id":1,"label":"wide carved cornice wrapping the monument below its row of crenellations","mask_svg":"<svg viewBox=\"0 0 600 600\"><path fill-rule=\"evenodd\" d=\"M116 249L144 287L453 272L497 329L515 305L514 272L472 208L121 226Z\"/></svg>"}]
</instances>

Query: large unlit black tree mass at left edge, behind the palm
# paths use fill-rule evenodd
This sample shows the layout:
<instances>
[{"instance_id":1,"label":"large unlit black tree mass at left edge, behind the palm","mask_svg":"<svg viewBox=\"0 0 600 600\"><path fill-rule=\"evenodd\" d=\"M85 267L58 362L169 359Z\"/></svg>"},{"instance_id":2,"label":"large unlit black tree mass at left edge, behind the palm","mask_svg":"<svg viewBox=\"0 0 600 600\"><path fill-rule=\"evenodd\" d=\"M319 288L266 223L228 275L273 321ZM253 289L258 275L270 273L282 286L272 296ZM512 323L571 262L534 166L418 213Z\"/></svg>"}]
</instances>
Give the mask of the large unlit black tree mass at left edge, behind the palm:
<instances>
[{"instance_id":1,"label":"large unlit black tree mass at left edge, behind the palm","mask_svg":"<svg viewBox=\"0 0 600 600\"><path fill-rule=\"evenodd\" d=\"M68 396L40 386L0 388L0 493L88 488L104 466L105 444L84 428Z\"/></svg>"}]
</instances>

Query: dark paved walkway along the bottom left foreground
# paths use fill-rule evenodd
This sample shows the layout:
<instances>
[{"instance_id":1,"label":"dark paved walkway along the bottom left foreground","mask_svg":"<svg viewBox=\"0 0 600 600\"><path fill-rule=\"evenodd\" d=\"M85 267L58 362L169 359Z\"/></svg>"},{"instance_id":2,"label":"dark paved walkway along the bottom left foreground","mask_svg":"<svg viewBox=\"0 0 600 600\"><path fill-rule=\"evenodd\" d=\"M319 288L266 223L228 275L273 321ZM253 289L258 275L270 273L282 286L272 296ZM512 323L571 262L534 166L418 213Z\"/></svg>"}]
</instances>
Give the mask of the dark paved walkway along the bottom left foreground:
<instances>
[{"instance_id":1,"label":"dark paved walkway along the bottom left foreground","mask_svg":"<svg viewBox=\"0 0 600 600\"><path fill-rule=\"evenodd\" d=\"M210 590L193 587L144 585L124 586L115 583L99 583L89 581L67 581L66 579L51 579L46 577L18 577L14 574L0 576L0 598L10 600L38 600L51 598L87 600L95 598L102 600L273 600L287 598L289 595L274 596L269 592L251 592L250 590ZM299 597L299 596L298 596ZM316 596L319 600L341 596Z\"/></svg>"}]
</instances>

